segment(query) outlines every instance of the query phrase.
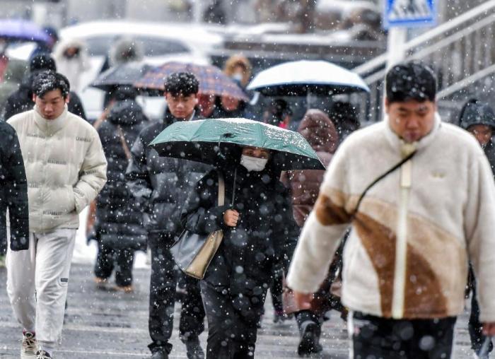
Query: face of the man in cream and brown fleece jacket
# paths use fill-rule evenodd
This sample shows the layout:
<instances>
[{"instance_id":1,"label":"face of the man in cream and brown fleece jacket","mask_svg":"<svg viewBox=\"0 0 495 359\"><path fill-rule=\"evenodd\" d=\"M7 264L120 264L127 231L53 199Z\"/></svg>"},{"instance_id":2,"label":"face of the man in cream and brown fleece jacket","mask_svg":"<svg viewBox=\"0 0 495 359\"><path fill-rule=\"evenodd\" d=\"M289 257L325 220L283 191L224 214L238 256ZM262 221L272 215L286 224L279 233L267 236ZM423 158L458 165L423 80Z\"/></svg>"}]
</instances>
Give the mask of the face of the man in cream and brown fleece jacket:
<instances>
[{"instance_id":1,"label":"face of the man in cream and brown fleece jacket","mask_svg":"<svg viewBox=\"0 0 495 359\"><path fill-rule=\"evenodd\" d=\"M419 141L430 133L435 122L436 103L426 100L408 100L389 103L385 99L385 112L390 128L407 143Z\"/></svg>"}]
</instances>

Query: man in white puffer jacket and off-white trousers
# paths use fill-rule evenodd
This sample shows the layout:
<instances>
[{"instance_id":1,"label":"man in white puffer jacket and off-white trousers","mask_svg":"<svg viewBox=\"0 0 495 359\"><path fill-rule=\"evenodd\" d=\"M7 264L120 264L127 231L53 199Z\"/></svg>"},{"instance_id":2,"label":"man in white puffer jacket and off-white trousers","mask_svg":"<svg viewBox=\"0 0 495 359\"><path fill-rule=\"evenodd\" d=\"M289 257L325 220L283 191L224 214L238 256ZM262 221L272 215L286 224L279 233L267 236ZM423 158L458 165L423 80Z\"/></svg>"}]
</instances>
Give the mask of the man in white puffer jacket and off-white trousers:
<instances>
[{"instance_id":1,"label":"man in white puffer jacket and off-white trousers","mask_svg":"<svg viewBox=\"0 0 495 359\"><path fill-rule=\"evenodd\" d=\"M34 109L8 119L28 179L30 248L8 250L7 292L23 325L21 353L45 359L62 334L78 213L103 188L107 161L93 126L67 111L65 76L40 73L33 93Z\"/></svg>"}]
</instances>

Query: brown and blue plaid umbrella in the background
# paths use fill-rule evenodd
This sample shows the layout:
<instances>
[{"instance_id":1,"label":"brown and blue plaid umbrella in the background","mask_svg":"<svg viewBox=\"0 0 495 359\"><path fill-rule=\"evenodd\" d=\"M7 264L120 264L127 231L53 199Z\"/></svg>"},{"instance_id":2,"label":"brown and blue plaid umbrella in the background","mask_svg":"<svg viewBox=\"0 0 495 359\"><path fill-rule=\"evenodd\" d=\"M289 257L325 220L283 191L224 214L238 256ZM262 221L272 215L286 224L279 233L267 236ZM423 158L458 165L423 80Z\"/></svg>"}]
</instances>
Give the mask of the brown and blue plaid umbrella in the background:
<instances>
[{"instance_id":1,"label":"brown and blue plaid umbrella in the background","mask_svg":"<svg viewBox=\"0 0 495 359\"><path fill-rule=\"evenodd\" d=\"M167 62L144 73L144 76L134 83L134 87L151 93L157 90L163 92L165 78L175 72L193 73L199 81L199 93L217 96L227 95L239 100L249 101L248 96L237 83L226 76L218 67L210 65Z\"/></svg>"}]
</instances>

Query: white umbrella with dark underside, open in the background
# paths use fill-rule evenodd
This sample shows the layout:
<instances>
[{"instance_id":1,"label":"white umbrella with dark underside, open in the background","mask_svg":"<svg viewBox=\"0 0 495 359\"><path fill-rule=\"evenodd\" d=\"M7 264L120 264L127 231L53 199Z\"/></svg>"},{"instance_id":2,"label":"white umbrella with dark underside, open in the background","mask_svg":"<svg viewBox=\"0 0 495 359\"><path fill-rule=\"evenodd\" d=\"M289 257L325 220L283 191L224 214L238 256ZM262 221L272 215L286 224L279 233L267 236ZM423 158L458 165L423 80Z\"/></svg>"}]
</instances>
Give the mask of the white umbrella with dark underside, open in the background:
<instances>
[{"instance_id":1,"label":"white umbrella with dark underside, open in the background","mask_svg":"<svg viewBox=\"0 0 495 359\"><path fill-rule=\"evenodd\" d=\"M260 73L252 79L248 90L266 96L335 95L370 89L354 72L328 61L290 61Z\"/></svg>"}]
</instances>

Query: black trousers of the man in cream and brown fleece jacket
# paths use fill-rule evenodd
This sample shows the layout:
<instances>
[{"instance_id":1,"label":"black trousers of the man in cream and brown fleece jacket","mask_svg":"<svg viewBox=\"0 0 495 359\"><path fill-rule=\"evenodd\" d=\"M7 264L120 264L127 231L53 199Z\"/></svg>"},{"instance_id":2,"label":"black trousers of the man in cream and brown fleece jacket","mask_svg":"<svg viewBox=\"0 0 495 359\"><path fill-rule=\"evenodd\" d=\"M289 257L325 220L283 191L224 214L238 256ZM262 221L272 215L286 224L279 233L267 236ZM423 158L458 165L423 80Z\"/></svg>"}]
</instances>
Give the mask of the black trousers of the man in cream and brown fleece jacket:
<instances>
[{"instance_id":1,"label":"black trousers of the man in cream and brown fleece jacket","mask_svg":"<svg viewBox=\"0 0 495 359\"><path fill-rule=\"evenodd\" d=\"M456 317L385 319L354 312L354 359L448 359Z\"/></svg>"}]
</instances>

